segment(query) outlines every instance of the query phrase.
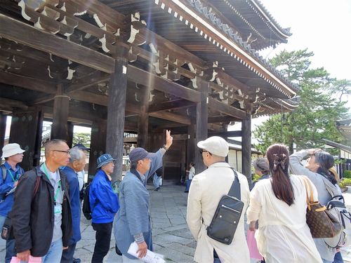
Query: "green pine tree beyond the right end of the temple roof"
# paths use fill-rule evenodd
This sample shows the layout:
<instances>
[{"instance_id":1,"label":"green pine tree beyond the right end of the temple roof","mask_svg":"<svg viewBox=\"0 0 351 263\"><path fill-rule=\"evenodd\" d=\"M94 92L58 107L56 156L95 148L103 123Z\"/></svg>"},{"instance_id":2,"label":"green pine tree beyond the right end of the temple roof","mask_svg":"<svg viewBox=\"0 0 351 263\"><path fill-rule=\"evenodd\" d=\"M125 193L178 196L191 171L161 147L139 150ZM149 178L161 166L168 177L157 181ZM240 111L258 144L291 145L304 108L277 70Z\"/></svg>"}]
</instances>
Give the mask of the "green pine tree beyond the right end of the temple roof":
<instances>
[{"instance_id":1,"label":"green pine tree beyond the right end of the temple roof","mask_svg":"<svg viewBox=\"0 0 351 263\"><path fill-rule=\"evenodd\" d=\"M290 150L293 143L298 149L322 148L322 138L343 143L335 123L347 118L343 95L350 94L351 81L331 79L323 67L310 69L312 56L306 49L284 50L270 61L290 81L298 83L300 104L293 112L271 116L253 131L259 142L256 148L263 153L278 142L286 144ZM329 151L337 153L336 149Z\"/></svg>"}]
</instances>

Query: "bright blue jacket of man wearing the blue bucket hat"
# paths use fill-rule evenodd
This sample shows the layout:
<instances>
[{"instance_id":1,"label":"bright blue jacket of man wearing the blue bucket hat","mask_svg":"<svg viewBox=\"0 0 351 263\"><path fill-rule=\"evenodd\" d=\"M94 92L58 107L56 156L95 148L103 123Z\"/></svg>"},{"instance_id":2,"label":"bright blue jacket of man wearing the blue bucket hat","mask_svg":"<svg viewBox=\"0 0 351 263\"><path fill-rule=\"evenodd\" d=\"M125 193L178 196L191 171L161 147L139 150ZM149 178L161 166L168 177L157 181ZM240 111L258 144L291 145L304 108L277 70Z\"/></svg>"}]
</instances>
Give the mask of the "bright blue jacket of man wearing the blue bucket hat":
<instances>
[{"instance_id":1,"label":"bright blue jacket of man wearing the blue bucket hat","mask_svg":"<svg viewBox=\"0 0 351 263\"><path fill-rule=\"evenodd\" d=\"M96 173L89 191L91 217L93 223L110 223L119 210L118 195L114 193L106 173Z\"/></svg>"}]
</instances>

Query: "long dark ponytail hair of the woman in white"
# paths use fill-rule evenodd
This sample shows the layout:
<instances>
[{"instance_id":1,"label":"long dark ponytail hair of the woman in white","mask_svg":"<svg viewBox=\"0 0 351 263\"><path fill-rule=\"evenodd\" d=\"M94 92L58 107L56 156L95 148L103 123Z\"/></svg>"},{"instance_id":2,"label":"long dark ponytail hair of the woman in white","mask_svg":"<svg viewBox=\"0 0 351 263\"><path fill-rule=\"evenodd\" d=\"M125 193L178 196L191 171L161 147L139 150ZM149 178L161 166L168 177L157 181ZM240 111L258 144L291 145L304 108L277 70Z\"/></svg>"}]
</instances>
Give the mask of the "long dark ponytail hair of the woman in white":
<instances>
[{"instance_id":1,"label":"long dark ponytail hair of the woman in white","mask_svg":"<svg viewBox=\"0 0 351 263\"><path fill-rule=\"evenodd\" d=\"M289 177L289 151L283 144L273 144L266 153L272 174L274 196L289 206L295 199L293 185Z\"/></svg>"}]
</instances>

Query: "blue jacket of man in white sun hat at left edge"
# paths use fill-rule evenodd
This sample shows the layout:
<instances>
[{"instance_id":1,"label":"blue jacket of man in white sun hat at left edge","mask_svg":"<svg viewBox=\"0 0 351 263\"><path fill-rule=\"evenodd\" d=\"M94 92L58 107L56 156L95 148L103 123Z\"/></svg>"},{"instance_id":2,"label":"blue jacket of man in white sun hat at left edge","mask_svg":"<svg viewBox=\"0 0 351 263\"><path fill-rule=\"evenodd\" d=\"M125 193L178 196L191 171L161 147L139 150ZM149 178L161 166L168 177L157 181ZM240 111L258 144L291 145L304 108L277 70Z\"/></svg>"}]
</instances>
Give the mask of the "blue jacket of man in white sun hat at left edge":
<instances>
[{"instance_id":1,"label":"blue jacket of man in white sun hat at left edge","mask_svg":"<svg viewBox=\"0 0 351 263\"><path fill-rule=\"evenodd\" d=\"M0 169L0 215L6 217L13 206L13 193L9 194L8 196L6 196L6 193L13 189L13 184L15 181L20 179L20 176L25 173L25 170L20 168L19 165L17 165L16 169L13 170L7 161L4 163L4 165L7 175L4 181L2 179L2 169Z\"/></svg>"}]
</instances>

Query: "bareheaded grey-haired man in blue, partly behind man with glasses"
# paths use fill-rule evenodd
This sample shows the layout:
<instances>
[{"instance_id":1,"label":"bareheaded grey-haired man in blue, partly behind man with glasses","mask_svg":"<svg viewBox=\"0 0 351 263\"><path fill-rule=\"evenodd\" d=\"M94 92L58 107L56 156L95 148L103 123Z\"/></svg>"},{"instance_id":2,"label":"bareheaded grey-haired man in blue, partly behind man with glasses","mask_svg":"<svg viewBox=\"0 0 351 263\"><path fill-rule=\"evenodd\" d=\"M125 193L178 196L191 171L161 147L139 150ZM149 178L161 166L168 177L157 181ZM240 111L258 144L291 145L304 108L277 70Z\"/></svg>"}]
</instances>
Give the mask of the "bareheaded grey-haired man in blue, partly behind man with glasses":
<instances>
[{"instance_id":1,"label":"bareheaded grey-haired man in blue, partly behind man with glasses","mask_svg":"<svg viewBox=\"0 0 351 263\"><path fill-rule=\"evenodd\" d=\"M68 166L62 168L61 173L66 175L69 187L73 236L69 240L68 248L62 252L61 263L78 263L81 262L81 260L73 258L77 242L81 240L81 201L79 198L79 180L77 173L84 170L86 154L78 147L73 147L71 151L69 151L69 155Z\"/></svg>"}]
</instances>

